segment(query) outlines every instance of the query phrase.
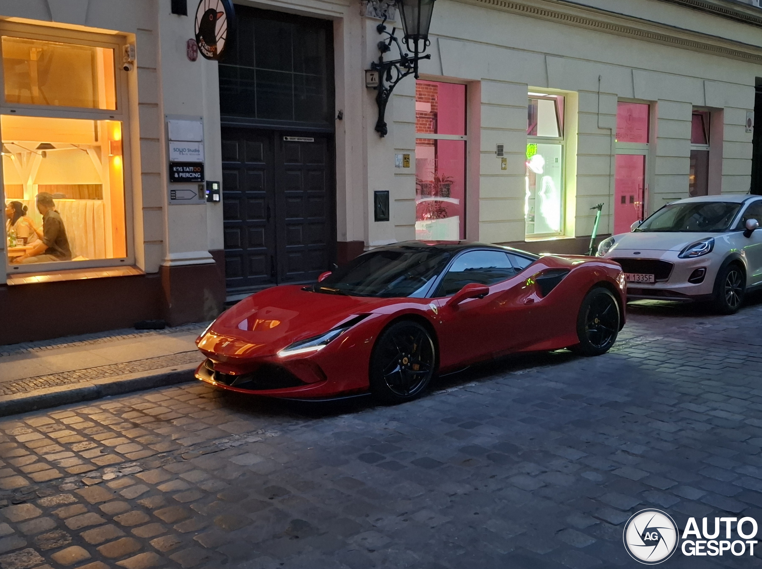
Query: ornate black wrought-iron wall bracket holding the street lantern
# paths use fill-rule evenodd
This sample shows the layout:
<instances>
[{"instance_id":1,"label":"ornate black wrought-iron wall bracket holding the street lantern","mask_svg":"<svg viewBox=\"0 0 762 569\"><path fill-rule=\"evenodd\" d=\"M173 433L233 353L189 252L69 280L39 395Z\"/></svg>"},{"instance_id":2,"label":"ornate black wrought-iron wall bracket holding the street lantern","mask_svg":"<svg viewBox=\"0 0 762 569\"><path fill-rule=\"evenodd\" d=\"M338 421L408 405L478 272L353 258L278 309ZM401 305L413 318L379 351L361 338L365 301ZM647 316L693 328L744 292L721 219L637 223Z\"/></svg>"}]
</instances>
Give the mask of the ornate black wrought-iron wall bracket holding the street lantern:
<instances>
[{"instance_id":1,"label":"ornate black wrought-iron wall bracket holding the street lantern","mask_svg":"<svg viewBox=\"0 0 762 569\"><path fill-rule=\"evenodd\" d=\"M429 45L428 39L422 40L423 48L420 50L418 44L421 42L421 40L403 40L405 41L408 50L411 50L414 53L412 56L402 50L402 44L399 42L399 37L395 36L395 31L397 31L397 28L392 27L391 32L387 31L386 18L384 18L383 22L376 26L376 30L379 34L385 34L386 39L379 41L378 48L379 52L381 52L381 55L379 55L379 60L377 62L373 61L370 63L370 69L379 72L379 84L378 86L373 87L377 91L376 104L379 108L379 117L378 121L376 121L376 132L379 133L379 136L386 137L388 129L386 128L384 115L386 114L386 104L389 102L389 97L392 96L392 91L394 91L397 83L402 81L402 79L405 79L405 77L408 75L413 74L415 79L418 79L418 62L421 61L421 59L431 59L431 53L428 53L424 56L418 55L419 52L423 53L426 50L426 47ZM399 52L399 59L390 59L389 61L384 61L383 54L389 53L389 51L392 50L392 46L397 48L397 51Z\"/></svg>"}]
</instances>

